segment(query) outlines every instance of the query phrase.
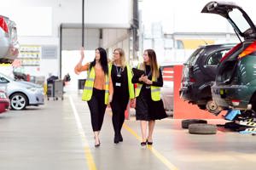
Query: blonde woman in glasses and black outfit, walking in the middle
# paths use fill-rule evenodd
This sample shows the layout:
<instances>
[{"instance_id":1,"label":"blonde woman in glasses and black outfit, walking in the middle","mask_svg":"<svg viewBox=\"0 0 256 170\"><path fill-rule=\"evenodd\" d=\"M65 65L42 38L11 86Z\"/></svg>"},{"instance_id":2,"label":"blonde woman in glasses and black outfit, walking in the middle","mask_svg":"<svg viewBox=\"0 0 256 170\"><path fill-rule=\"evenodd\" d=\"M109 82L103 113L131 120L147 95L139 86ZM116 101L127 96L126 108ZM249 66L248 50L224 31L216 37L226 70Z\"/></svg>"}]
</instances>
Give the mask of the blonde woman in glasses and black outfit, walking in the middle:
<instances>
[{"instance_id":1,"label":"blonde woman in glasses and black outfit, walking in the middle","mask_svg":"<svg viewBox=\"0 0 256 170\"><path fill-rule=\"evenodd\" d=\"M121 128L125 122L125 110L129 99L134 102L134 88L131 82L131 68L125 62L125 52L122 48L113 50L113 62L111 67L111 79L113 82L113 99L110 103L113 112L112 122L114 130L113 143L123 141Z\"/></svg>"}]
</instances>

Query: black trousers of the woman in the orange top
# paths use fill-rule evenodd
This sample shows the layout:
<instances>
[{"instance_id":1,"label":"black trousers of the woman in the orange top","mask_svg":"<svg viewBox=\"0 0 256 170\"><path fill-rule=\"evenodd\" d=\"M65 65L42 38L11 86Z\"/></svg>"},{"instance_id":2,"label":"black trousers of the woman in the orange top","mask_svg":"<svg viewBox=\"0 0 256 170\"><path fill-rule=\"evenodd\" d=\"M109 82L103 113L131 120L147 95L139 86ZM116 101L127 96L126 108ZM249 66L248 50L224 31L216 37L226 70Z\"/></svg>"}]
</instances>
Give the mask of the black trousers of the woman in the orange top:
<instances>
[{"instance_id":1,"label":"black trousers of the woman in the orange top","mask_svg":"<svg viewBox=\"0 0 256 170\"><path fill-rule=\"evenodd\" d=\"M87 102L90 109L90 121L93 131L100 131L106 111L105 90L93 88L91 99Z\"/></svg>"}]
</instances>

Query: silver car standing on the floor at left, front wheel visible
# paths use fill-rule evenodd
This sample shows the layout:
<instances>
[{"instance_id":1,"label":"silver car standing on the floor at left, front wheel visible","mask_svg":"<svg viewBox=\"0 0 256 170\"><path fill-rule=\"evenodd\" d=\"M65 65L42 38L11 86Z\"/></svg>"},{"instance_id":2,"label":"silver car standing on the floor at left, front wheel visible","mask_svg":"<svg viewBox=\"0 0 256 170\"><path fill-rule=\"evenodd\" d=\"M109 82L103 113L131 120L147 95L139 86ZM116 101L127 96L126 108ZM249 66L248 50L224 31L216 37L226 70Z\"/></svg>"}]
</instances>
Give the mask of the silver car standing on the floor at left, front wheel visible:
<instances>
[{"instance_id":1,"label":"silver car standing on the floor at left, front wheel visible","mask_svg":"<svg viewBox=\"0 0 256 170\"><path fill-rule=\"evenodd\" d=\"M0 88L9 96L13 110L23 110L28 105L44 105L44 88L38 84L15 81L0 73Z\"/></svg>"}]
</instances>

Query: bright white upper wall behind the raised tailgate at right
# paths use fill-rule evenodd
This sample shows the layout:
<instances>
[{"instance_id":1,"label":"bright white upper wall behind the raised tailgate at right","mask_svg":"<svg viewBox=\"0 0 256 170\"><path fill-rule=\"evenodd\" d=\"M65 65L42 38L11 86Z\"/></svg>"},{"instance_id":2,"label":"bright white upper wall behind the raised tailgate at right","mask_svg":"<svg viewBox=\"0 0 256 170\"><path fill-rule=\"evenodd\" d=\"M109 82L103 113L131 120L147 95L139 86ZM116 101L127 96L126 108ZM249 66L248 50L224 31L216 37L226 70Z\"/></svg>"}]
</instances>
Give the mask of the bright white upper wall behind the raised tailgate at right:
<instances>
[{"instance_id":1,"label":"bright white upper wall behind the raised tailgate at right","mask_svg":"<svg viewBox=\"0 0 256 170\"><path fill-rule=\"evenodd\" d=\"M230 24L217 14L202 14L201 9L211 0L145 0L140 3L143 26L149 31L151 23L160 22L166 33L173 32L231 32ZM241 6L256 24L252 0L230 0ZM148 31L146 30L146 31Z\"/></svg>"}]
</instances>

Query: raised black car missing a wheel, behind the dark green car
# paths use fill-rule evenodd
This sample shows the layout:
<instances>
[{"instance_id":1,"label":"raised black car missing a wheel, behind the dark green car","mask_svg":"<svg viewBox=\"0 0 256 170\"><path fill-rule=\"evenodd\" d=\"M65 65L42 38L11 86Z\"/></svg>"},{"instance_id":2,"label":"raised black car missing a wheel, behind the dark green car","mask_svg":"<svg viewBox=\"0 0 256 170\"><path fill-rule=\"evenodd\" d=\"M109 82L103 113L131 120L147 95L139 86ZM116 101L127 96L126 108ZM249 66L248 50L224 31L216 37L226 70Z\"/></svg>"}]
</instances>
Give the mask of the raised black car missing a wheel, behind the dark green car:
<instances>
[{"instance_id":1,"label":"raised black car missing a wheel, behind the dark green car","mask_svg":"<svg viewBox=\"0 0 256 170\"><path fill-rule=\"evenodd\" d=\"M211 86L215 80L220 59L235 44L204 45L190 55L183 64L180 97L201 110L218 114L221 108L212 100Z\"/></svg>"}]
</instances>

